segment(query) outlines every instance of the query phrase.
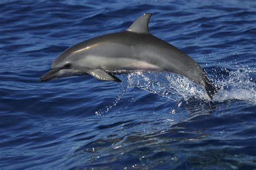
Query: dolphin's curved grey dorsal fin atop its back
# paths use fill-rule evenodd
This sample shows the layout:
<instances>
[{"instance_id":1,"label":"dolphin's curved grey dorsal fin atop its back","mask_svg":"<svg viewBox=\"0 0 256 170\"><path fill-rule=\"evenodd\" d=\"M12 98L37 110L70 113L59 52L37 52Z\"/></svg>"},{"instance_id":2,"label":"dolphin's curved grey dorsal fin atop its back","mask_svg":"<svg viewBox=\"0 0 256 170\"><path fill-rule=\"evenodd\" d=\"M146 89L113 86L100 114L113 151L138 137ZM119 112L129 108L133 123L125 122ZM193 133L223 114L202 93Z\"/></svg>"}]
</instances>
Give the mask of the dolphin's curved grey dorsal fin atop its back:
<instances>
[{"instance_id":1,"label":"dolphin's curved grey dorsal fin atop its back","mask_svg":"<svg viewBox=\"0 0 256 170\"><path fill-rule=\"evenodd\" d=\"M149 33L149 19L151 13L144 13L126 30L136 33Z\"/></svg>"}]
</instances>

